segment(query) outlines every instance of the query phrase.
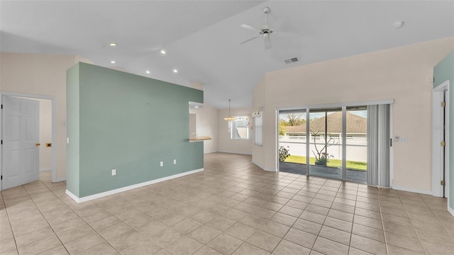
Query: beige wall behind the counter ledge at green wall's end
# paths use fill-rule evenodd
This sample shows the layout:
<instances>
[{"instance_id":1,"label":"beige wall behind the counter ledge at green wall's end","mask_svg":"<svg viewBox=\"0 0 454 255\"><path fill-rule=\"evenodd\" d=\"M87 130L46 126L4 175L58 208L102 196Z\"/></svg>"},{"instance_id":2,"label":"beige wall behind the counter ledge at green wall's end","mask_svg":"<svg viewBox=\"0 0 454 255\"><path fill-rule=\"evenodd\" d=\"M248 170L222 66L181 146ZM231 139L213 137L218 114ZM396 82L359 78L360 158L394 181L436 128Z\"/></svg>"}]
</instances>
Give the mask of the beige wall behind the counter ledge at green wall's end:
<instances>
[{"instance_id":1,"label":"beige wall behind the counter ledge at green wall's end","mask_svg":"<svg viewBox=\"0 0 454 255\"><path fill-rule=\"evenodd\" d=\"M205 140L204 153L218 151L218 110L208 103L203 108L189 108L189 113L196 114L196 132L199 136L209 136Z\"/></svg>"}]
</instances>

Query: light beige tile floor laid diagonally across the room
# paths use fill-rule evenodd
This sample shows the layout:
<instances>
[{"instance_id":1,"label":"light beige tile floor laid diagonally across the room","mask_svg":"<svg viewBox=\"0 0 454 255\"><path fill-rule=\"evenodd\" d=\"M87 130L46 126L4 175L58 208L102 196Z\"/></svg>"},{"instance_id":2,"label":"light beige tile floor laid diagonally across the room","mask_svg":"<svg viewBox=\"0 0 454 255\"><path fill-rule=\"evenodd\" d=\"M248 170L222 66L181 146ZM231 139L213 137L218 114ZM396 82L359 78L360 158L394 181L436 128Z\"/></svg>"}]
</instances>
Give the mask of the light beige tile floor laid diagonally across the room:
<instances>
[{"instance_id":1,"label":"light beige tile floor laid diagonally across the room","mask_svg":"<svg viewBox=\"0 0 454 255\"><path fill-rule=\"evenodd\" d=\"M259 169L205 171L86 203L65 183L1 192L0 254L453 254L446 200Z\"/></svg>"}]
</instances>

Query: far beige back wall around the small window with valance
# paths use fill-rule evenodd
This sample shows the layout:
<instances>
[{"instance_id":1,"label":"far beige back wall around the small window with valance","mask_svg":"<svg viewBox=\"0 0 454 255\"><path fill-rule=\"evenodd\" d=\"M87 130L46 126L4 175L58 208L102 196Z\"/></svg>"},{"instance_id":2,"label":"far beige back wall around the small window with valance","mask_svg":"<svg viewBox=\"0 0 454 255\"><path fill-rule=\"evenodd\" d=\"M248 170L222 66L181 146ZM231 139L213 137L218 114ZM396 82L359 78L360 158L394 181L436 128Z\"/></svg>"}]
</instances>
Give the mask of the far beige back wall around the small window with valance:
<instances>
[{"instance_id":1,"label":"far beige back wall around the small window with valance","mask_svg":"<svg viewBox=\"0 0 454 255\"><path fill-rule=\"evenodd\" d=\"M250 115L252 111L252 108L231 109L231 115ZM218 110L218 152L252 154L252 140L231 140L228 122L224 120L227 115L228 110Z\"/></svg>"}]
</instances>

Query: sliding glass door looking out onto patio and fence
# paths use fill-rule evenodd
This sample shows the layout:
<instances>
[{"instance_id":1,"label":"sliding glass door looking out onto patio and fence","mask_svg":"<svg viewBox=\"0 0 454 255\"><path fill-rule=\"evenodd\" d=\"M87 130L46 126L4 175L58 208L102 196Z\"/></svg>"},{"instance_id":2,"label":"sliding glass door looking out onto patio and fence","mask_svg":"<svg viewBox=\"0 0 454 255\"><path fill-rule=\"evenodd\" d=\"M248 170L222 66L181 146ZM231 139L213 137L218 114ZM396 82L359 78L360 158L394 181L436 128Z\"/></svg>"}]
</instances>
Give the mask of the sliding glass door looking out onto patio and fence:
<instances>
[{"instance_id":1,"label":"sliding glass door looking out onto patio and fence","mask_svg":"<svg viewBox=\"0 0 454 255\"><path fill-rule=\"evenodd\" d=\"M367 109L343 106L279 111L279 171L368 183L368 165L372 166L368 152L372 149L368 147Z\"/></svg>"}]
</instances>

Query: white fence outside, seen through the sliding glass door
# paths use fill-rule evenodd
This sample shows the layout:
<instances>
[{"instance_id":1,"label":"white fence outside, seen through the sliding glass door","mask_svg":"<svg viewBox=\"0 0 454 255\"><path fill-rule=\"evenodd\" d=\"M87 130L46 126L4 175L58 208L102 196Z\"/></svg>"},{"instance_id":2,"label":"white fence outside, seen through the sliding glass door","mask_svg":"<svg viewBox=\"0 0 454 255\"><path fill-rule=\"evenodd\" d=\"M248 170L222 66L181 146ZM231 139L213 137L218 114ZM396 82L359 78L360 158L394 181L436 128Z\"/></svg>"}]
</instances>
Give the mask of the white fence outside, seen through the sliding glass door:
<instances>
[{"instance_id":1,"label":"white fence outside, seen through the sliding glass door","mask_svg":"<svg viewBox=\"0 0 454 255\"><path fill-rule=\"evenodd\" d=\"M367 137L347 137L346 139L347 160L357 162L367 162ZM342 136L328 137L329 146L326 152L332 155L331 159L342 159ZM309 136L310 157L314 157L316 146L320 150L324 145L323 137L316 137L316 145L312 136ZM279 136L279 146L288 147L289 154L295 156L306 156L306 137L305 136Z\"/></svg>"}]
</instances>

